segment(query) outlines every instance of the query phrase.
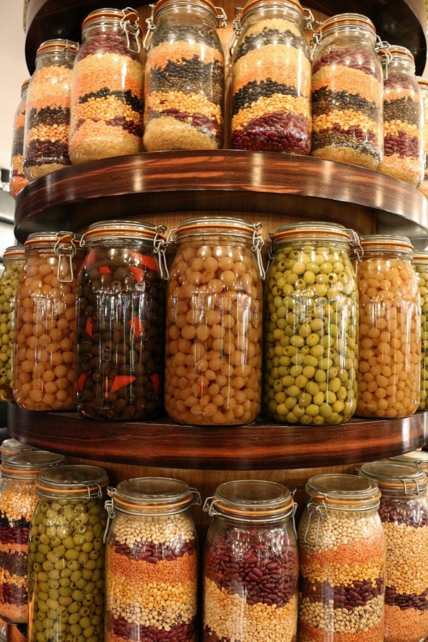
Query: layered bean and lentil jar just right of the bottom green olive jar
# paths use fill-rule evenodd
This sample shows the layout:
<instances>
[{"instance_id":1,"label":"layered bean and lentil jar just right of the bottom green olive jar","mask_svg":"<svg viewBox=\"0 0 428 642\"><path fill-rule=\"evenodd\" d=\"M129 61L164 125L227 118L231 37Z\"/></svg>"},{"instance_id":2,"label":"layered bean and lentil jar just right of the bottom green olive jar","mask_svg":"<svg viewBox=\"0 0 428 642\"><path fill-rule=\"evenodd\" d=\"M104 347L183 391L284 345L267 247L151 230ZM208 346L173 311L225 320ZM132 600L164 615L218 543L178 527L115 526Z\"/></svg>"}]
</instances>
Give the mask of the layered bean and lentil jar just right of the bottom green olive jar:
<instances>
[{"instance_id":1,"label":"layered bean and lentil jar just right of the bottom green olive jar","mask_svg":"<svg viewBox=\"0 0 428 642\"><path fill-rule=\"evenodd\" d=\"M197 639L195 489L178 479L121 481L108 501L106 642Z\"/></svg>"}]
</instances>

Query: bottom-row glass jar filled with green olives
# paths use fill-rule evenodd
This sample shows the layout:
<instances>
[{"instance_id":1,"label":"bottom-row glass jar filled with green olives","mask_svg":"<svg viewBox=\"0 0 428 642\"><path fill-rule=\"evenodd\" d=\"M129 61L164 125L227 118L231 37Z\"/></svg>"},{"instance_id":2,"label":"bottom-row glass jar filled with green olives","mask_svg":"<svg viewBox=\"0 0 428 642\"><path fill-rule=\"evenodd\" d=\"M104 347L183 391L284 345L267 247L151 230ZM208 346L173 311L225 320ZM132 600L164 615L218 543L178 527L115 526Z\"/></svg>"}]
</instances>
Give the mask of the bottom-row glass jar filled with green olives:
<instances>
[{"instance_id":1,"label":"bottom-row glass jar filled with green olives","mask_svg":"<svg viewBox=\"0 0 428 642\"><path fill-rule=\"evenodd\" d=\"M41 472L29 532L29 642L102 642L106 471Z\"/></svg>"}]
</instances>

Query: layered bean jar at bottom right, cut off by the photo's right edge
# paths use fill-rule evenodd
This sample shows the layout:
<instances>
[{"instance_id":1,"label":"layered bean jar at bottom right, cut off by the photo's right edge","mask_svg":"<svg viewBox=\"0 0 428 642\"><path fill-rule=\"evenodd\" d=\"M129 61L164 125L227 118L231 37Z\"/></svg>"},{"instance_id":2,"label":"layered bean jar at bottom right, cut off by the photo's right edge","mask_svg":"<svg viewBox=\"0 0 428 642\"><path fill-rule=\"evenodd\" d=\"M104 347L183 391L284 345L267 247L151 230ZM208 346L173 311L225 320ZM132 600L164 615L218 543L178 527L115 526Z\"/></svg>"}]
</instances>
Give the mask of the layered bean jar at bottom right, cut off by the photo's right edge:
<instances>
[{"instance_id":1,"label":"layered bean jar at bottom right, cut off by the photo's right edge","mask_svg":"<svg viewBox=\"0 0 428 642\"><path fill-rule=\"evenodd\" d=\"M428 636L427 475L412 464L370 462L360 475L375 481L387 544L384 642Z\"/></svg>"}]
</instances>

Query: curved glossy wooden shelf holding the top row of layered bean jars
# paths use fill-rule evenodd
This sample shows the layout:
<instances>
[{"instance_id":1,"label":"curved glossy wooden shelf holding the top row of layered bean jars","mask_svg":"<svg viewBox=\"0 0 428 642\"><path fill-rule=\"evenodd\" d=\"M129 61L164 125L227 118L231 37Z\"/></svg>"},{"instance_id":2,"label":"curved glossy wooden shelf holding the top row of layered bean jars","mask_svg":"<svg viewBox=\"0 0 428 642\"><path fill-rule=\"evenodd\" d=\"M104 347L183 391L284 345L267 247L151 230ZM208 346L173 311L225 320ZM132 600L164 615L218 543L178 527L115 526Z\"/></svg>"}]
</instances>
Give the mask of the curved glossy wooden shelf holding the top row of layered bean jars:
<instances>
[{"instance_id":1,"label":"curved glossy wooden shelf holding the top row of layered bean jars","mask_svg":"<svg viewBox=\"0 0 428 642\"><path fill-rule=\"evenodd\" d=\"M319 158L232 150L141 153L64 168L21 191L15 233L23 242L31 232L81 230L105 218L157 222L161 215L168 223L173 213L327 220L427 245L427 200L402 181Z\"/></svg>"}]
</instances>

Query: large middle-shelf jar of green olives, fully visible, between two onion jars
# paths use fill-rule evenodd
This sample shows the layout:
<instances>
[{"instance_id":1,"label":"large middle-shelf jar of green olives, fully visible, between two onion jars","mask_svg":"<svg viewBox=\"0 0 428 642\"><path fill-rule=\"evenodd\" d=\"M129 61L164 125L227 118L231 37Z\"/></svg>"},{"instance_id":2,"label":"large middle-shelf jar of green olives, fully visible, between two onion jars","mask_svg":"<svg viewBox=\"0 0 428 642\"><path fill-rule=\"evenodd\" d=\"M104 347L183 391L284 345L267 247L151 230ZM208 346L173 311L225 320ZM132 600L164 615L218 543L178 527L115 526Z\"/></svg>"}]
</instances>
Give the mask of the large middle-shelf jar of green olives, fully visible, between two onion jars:
<instances>
[{"instance_id":1,"label":"large middle-shelf jar of green olives, fully visible, between two onion jars","mask_svg":"<svg viewBox=\"0 0 428 642\"><path fill-rule=\"evenodd\" d=\"M357 403L357 284L352 230L281 225L265 285L263 402L270 419L342 424Z\"/></svg>"}]
</instances>

